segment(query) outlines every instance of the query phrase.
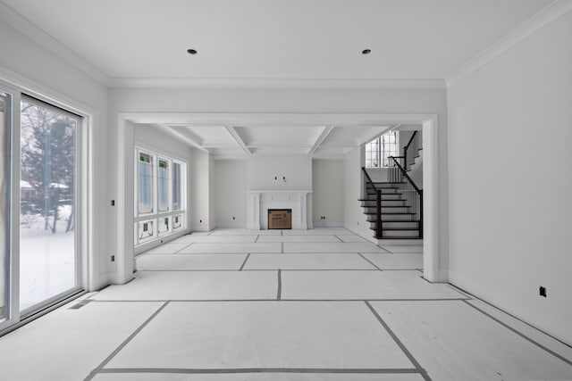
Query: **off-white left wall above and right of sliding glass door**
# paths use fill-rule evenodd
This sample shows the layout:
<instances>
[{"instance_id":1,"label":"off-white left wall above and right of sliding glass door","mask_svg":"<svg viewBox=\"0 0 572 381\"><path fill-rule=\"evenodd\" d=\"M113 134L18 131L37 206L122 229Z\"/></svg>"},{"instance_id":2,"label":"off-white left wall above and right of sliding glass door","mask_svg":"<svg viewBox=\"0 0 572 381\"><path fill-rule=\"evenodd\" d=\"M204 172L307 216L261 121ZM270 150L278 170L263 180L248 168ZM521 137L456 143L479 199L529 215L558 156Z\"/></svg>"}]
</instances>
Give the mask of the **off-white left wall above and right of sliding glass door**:
<instances>
[{"instance_id":1,"label":"off-white left wall above and right of sliding glass door","mask_svg":"<svg viewBox=\"0 0 572 381\"><path fill-rule=\"evenodd\" d=\"M109 143L111 135L108 129L108 89L1 21L0 46L2 46L0 71L10 70L38 84L39 87L46 88L51 94L56 94L54 98L57 101L65 103L67 99L70 99L96 111L93 128L93 143L97 159L94 163L93 179L95 186L93 228L96 236L93 242L94 253L98 255L95 265L99 277L93 283L95 288L105 286L109 283L107 273L114 268L109 259L110 253L114 253L116 247L114 228L117 224L117 210L110 206L110 200L115 195L116 180L114 166L111 166L110 170L110 164L114 162L108 160L108 153L113 152L116 156L116 150L114 143ZM0 80L3 79L6 78L0 73ZM41 89L32 87L42 93Z\"/></svg>"}]
</instances>

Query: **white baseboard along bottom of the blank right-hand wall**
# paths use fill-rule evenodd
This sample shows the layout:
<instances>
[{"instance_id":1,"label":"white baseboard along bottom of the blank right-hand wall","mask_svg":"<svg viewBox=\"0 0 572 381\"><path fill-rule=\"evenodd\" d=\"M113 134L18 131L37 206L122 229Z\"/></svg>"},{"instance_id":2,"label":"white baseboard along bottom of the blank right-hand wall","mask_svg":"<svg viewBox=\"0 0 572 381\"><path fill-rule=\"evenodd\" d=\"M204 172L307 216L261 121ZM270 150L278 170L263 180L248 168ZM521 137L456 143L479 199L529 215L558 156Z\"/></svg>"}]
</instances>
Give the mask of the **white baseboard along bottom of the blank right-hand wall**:
<instances>
[{"instance_id":1,"label":"white baseboard along bottom of the blank right-hand wall","mask_svg":"<svg viewBox=\"0 0 572 381\"><path fill-rule=\"evenodd\" d=\"M531 311L528 307L518 304L488 286L477 283L454 271L448 272L451 285L458 286L458 288L467 291L469 294L474 294L477 298L492 304L501 311L505 311L517 319L525 321L548 335L556 337L563 343L572 345L572 332L570 331L569 323L566 321L553 319L537 311Z\"/></svg>"}]
</instances>

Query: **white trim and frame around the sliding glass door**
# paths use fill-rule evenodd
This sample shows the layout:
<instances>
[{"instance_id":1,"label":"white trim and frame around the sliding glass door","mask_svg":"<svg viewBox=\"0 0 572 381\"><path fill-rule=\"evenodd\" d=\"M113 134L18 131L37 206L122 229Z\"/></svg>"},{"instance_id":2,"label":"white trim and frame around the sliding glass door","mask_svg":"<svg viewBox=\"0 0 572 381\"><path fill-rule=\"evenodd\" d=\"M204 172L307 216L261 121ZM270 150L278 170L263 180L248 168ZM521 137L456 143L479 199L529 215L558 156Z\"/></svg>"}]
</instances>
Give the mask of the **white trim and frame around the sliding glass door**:
<instances>
[{"instance_id":1,"label":"white trim and frame around the sliding glass door","mask_svg":"<svg viewBox=\"0 0 572 381\"><path fill-rule=\"evenodd\" d=\"M1 3L0 3L1 5ZM2 7L0 7L0 10ZM80 200L77 200L81 212L78 211L76 219L76 244L79 246L76 251L80 252L80 285L86 291L94 291L100 286L100 275L98 274L98 253L97 239L97 208L94 192L95 162L94 153L96 151L96 139L94 137L95 127L98 123L98 113L86 104L81 104L65 95L62 95L51 88L44 87L37 82L27 79L20 74L7 70L0 66L0 86L4 91L12 95L12 120L11 132L11 188L10 188L10 317L4 321L0 327L14 327L21 320L20 312L20 292L19 287L13 287L20 283L20 214L14 211L20 210L20 187L12 186L20 184L20 104L21 94L31 95L47 104L55 105L80 115L82 124L78 130L78 158L77 169L80 176L77 178ZM79 241L79 242L78 242ZM79 249L79 250L78 250Z\"/></svg>"}]
</instances>

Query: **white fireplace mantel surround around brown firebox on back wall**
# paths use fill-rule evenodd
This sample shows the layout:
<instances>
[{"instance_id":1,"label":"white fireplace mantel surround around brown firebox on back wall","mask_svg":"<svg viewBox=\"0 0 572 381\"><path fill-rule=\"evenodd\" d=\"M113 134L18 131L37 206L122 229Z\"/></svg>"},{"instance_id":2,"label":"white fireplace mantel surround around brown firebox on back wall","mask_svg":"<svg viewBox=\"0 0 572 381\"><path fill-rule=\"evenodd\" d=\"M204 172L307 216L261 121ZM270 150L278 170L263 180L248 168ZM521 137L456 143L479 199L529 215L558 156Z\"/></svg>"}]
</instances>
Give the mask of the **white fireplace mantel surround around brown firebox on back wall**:
<instances>
[{"instance_id":1,"label":"white fireplace mantel surround around brown firebox on back wall","mask_svg":"<svg viewBox=\"0 0 572 381\"><path fill-rule=\"evenodd\" d=\"M311 193L311 190L247 191L247 228L254 230L265 230L268 228L269 209L291 209L292 228L306 230L308 228L307 195Z\"/></svg>"}]
</instances>

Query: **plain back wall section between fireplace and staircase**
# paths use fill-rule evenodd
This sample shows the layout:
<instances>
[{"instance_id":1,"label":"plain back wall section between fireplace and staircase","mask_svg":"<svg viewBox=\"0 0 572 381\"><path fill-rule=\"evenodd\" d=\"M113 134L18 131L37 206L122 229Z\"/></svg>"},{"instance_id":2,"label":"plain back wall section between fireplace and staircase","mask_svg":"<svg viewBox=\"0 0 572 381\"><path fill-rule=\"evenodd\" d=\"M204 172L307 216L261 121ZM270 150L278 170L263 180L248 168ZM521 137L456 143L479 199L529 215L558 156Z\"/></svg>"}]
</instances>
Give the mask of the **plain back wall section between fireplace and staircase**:
<instances>
[{"instance_id":1,"label":"plain back wall section between fireplace and staircase","mask_svg":"<svg viewBox=\"0 0 572 381\"><path fill-rule=\"evenodd\" d=\"M341 227L344 221L344 161L312 161L314 227ZM325 217L325 219L320 219Z\"/></svg>"}]
</instances>

